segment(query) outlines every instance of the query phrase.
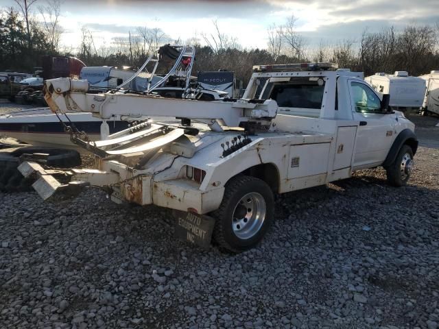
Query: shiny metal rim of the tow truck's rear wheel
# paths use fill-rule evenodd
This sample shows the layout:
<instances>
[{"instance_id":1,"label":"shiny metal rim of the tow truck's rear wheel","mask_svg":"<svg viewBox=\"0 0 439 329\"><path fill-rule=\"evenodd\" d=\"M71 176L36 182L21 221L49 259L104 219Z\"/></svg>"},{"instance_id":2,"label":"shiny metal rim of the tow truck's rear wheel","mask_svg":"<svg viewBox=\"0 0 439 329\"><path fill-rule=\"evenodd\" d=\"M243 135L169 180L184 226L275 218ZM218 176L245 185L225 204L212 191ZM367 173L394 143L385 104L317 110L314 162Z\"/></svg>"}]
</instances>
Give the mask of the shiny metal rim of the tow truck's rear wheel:
<instances>
[{"instance_id":1,"label":"shiny metal rim of the tow truck's rear wheel","mask_svg":"<svg viewBox=\"0 0 439 329\"><path fill-rule=\"evenodd\" d=\"M250 239L263 226L267 206L263 196L257 192L247 193L239 199L233 210L232 229L239 239Z\"/></svg>"}]
</instances>

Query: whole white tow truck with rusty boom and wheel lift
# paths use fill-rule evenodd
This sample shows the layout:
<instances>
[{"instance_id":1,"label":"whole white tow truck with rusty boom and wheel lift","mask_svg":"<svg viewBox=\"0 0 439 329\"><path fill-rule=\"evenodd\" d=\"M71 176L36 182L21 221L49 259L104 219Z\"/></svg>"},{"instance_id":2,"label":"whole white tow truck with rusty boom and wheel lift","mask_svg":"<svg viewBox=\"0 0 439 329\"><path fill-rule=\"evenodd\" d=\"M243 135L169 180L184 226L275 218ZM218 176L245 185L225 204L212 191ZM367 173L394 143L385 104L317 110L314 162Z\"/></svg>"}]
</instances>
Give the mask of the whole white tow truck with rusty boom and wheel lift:
<instances>
[{"instance_id":1,"label":"whole white tow truck with rusty boom and wheel lift","mask_svg":"<svg viewBox=\"0 0 439 329\"><path fill-rule=\"evenodd\" d=\"M389 110L366 82L333 64L254 66L242 99L200 101L130 93L88 94L82 81L45 82L54 112L93 112L143 121L88 142L95 169L48 170L23 162L43 199L82 186L106 188L114 202L174 210L176 236L229 252L254 247L274 221L274 195L351 177L383 166L388 182L407 183L418 141L414 124ZM254 95L264 84L258 99ZM73 192L72 192L73 193Z\"/></svg>"}]
</instances>

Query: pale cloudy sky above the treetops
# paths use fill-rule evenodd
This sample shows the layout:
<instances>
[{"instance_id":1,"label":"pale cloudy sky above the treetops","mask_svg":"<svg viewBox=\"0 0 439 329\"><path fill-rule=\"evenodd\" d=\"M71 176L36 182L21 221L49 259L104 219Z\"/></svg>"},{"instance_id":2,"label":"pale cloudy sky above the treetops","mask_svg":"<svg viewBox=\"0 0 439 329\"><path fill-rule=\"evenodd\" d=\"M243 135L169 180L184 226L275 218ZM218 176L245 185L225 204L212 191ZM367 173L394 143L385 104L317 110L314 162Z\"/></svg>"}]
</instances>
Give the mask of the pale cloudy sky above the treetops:
<instances>
[{"instance_id":1,"label":"pale cloudy sky above the treetops","mask_svg":"<svg viewBox=\"0 0 439 329\"><path fill-rule=\"evenodd\" d=\"M38 5L47 0L38 0ZM62 45L75 49L81 28L93 32L97 47L113 37L128 36L137 27L160 27L171 39L188 40L214 32L216 20L222 33L237 38L245 48L267 47L267 29L292 15L297 31L308 45L358 39L361 32L379 32L407 23L439 23L439 0L64 0L61 5ZM16 6L0 0L0 7Z\"/></svg>"}]
</instances>

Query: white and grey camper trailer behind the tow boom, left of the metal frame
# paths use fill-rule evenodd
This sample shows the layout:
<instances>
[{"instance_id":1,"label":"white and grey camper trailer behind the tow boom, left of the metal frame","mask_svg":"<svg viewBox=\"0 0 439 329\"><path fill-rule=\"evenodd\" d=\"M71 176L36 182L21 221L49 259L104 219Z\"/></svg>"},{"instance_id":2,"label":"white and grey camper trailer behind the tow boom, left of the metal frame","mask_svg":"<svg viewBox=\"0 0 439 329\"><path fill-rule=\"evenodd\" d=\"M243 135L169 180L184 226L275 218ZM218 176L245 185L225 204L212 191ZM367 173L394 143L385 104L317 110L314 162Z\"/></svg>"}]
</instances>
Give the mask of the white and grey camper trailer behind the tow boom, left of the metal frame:
<instances>
[{"instance_id":1,"label":"white and grey camper trailer behind the tow boom, left of the metal frame","mask_svg":"<svg viewBox=\"0 0 439 329\"><path fill-rule=\"evenodd\" d=\"M93 93L116 88L126 82L135 71L117 69L114 66L85 66L81 69L80 80L88 80ZM143 91L147 88L147 75L137 76L128 86L130 90Z\"/></svg>"}]
</instances>

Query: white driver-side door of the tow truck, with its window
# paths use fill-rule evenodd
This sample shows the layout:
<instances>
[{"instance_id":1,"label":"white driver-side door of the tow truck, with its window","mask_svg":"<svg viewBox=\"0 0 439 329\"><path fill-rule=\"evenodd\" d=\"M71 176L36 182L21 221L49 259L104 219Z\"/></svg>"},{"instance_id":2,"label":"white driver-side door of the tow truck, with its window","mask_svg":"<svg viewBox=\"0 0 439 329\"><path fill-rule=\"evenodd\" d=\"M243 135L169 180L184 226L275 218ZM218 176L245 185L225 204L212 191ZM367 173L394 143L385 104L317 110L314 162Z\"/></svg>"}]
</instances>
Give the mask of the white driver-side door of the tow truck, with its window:
<instances>
[{"instance_id":1,"label":"white driver-side door of the tow truck, with its window","mask_svg":"<svg viewBox=\"0 0 439 329\"><path fill-rule=\"evenodd\" d=\"M381 99L368 84L349 80L353 119L359 121L354 168L383 163L394 140L394 114L381 113Z\"/></svg>"}]
</instances>

